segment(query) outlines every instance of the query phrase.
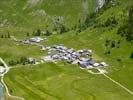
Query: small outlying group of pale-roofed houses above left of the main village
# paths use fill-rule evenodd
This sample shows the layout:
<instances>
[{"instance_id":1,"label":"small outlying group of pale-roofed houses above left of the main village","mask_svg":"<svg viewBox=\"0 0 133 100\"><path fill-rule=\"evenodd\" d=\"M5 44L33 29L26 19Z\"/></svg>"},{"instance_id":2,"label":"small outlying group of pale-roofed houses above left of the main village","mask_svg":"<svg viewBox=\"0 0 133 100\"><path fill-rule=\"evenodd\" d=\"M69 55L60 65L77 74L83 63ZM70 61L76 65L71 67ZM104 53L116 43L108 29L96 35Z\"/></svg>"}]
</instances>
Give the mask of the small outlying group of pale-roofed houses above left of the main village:
<instances>
[{"instance_id":1,"label":"small outlying group of pale-roofed houses above left of the main village","mask_svg":"<svg viewBox=\"0 0 133 100\"><path fill-rule=\"evenodd\" d=\"M41 41L46 40L46 38L41 38L41 37L34 37L30 39L25 39L23 41L24 44L30 44L30 43L40 43Z\"/></svg>"}]
</instances>

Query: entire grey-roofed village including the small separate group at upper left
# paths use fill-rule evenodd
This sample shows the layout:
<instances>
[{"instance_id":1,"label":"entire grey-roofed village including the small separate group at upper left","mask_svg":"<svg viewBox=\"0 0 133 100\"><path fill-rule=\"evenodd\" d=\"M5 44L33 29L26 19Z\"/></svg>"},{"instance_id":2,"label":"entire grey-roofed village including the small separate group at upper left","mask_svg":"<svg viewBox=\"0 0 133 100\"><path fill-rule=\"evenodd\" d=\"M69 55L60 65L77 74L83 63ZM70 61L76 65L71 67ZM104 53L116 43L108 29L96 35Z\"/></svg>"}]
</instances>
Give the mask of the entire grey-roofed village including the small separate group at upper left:
<instances>
[{"instance_id":1,"label":"entire grey-roofed village including the small separate group at upper left","mask_svg":"<svg viewBox=\"0 0 133 100\"><path fill-rule=\"evenodd\" d=\"M22 42L24 44L40 43L41 41L47 40L46 38L34 37L25 39ZM109 66L105 62L98 62L92 58L92 50L74 50L73 48L67 48L63 44L53 46L41 46L41 50L48 51L48 55L41 57L41 61L37 59L29 58L28 64L39 64L40 62L57 62L65 61L69 64L78 64L81 68L96 68L96 67L107 67Z\"/></svg>"}]
</instances>

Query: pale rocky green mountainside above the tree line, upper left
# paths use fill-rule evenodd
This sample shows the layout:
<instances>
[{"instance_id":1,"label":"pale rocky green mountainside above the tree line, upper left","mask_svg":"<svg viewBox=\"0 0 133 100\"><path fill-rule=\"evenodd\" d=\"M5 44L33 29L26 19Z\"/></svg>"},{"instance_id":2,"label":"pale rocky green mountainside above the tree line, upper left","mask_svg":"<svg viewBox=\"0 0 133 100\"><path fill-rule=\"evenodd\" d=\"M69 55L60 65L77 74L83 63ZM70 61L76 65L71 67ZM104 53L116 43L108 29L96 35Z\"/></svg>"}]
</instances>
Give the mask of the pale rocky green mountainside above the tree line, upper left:
<instances>
[{"instance_id":1,"label":"pale rocky green mountainside above the tree line, upper left","mask_svg":"<svg viewBox=\"0 0 133 100\"><path fill-rule=\"evenodd\" d=\"M0 22L4 21L5 26L43 29L57 16L72 26L81 17L83 3L83 0L1 0ZM87 13L90 13L96 2L89 0L87 3Z\"/></svg>"}]
</instances>

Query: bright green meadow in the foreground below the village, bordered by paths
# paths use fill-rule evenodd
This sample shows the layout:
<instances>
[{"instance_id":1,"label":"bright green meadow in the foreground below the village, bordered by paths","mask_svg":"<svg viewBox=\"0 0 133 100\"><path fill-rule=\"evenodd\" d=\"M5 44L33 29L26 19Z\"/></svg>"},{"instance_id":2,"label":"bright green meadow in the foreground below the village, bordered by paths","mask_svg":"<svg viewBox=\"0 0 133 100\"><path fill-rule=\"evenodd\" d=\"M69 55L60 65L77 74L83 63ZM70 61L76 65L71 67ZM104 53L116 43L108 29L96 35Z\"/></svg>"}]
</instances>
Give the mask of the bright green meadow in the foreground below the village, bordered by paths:
<instances>
[{"instance_id":1,"label":"bright green meadow in the foreground below the village, bordered by paths","mask_svg":"<svg viewBox=\"0 0 133 100\"><path fill-rule=\"evenodd\" d=\"M12 94L26 100L132 100L132 95L104 76L91 75L78 66L46 63L19 67L5 80Z\"/></svg>"}]
</instances>

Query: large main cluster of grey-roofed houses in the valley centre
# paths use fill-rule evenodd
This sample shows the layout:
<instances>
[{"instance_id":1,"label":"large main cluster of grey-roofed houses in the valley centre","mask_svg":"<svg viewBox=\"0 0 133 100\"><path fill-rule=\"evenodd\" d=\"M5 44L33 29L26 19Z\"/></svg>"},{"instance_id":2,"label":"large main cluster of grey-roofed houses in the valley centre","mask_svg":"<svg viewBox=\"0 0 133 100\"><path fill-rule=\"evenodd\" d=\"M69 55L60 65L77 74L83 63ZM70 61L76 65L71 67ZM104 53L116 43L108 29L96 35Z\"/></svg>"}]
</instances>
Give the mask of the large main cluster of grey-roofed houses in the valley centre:
<instances>
[{"instance_id":1,"label":"large main cluster of grey-roofed houses in the valley centre","mask_svg":"<svg viewBox=\"0 0 133 100\"><path fill-rule=\"evenodd\" d=\"M54 45L52 47L42 47L41 50L48 50L48 55L42 57L43 61L55 62L66 61L70 64L78 64L81 68L107 67L105 62L96 62L92 59L92 50L74 50L63 45Z\"/></svg>"}]
</instances>

